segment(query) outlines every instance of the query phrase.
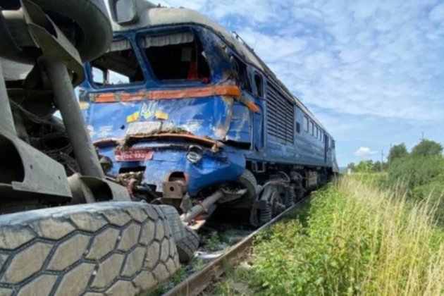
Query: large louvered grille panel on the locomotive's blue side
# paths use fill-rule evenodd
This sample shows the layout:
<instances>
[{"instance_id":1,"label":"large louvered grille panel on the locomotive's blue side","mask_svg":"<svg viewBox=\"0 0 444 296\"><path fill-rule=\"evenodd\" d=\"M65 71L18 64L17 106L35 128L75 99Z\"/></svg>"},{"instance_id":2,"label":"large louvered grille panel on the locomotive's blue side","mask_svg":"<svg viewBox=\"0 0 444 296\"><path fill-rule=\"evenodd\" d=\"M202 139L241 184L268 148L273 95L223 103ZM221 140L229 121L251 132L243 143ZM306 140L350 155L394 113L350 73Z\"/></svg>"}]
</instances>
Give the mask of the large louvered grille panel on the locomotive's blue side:
<instances>
[{"instance_id":1,"label":"large louvered grille panel on the locomotive's blue side","mask_svg":"<svg viewBox=\"0 0 444 296\"><path fill-rule=\"evenodd\" d=\"M293 143L295 132L295 108L276 87L267 83L266 87L266 127L268 135Z\"/></svg>"}]
</instances>

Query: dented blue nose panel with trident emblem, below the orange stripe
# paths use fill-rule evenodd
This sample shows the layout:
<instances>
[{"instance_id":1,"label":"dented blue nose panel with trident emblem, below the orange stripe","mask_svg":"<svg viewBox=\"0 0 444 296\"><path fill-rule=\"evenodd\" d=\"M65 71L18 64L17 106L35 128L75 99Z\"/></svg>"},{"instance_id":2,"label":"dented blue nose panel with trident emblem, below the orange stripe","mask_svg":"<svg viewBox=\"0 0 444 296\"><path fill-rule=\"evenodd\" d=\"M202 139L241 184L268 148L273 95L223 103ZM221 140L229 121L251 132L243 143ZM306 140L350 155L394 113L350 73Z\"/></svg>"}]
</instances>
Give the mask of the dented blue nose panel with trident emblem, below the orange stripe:
<instances>
[{"instance_id":1,"label":"dented blue nose panel with trident emblem, below the orange stripe","mask_svg":"<svg viewBox=\"0 0 444 296\"><path fill-rule=\"evenodd\" d=\"M111 103L91 103L84 112L93 142L123 138L135 123L161 123L161 131L190 132L199 137L225 140L233 99L205 97ZM243 107L245 109L245 107ZM143 124L139 124L143 127ZM143 132L143 129L141 130Z\"/></svg>"}]
</instances>

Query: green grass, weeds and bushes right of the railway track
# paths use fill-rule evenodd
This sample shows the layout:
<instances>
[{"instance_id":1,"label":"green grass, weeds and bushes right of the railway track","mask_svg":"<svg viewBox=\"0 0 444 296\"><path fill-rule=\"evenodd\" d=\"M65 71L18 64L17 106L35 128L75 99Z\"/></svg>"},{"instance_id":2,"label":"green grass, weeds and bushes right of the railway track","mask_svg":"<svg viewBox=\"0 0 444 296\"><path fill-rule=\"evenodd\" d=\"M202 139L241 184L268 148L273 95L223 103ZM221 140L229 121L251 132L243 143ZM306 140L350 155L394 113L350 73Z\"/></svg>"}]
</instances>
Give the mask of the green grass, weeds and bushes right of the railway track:
<instances>
[{"instance_id":1,"label":"green grass, weeds and bushes right of the railway track","mask_svg":"<svg viewBox=\"0 0 444 296\"><path fill-rule=\"evenodd\" d=\"M211 294L442 295L442 152L423 140L410 152L393 146L387 162L349 164L351 175L261 234ZM212 233L205 245L218 249L221 238Z\"/></svg>"}]
</instances>

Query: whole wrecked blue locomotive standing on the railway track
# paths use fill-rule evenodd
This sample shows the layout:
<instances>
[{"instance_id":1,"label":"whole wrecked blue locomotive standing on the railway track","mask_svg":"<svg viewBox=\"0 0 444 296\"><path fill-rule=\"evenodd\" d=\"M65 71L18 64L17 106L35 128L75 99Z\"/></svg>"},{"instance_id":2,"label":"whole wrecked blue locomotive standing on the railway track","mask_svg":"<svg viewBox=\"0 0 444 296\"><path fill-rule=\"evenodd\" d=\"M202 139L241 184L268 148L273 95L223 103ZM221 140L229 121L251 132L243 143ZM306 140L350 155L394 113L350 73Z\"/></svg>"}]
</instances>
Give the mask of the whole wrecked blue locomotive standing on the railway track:
<instances>
[{"instance_id":1,"label":"whole wrecked blue locomotive standing on the railway track","mask_svg":"<svg viewBox=\"0 0 444 296\"><path fill-rule=\"evenodd\" d=\"M338 172L333 137L240 37L195 11L133 5L79 94L106 174L133 199L194 228L216 207L259 225Z\"/></svg>"}]
</instances>

